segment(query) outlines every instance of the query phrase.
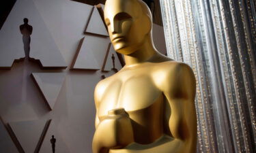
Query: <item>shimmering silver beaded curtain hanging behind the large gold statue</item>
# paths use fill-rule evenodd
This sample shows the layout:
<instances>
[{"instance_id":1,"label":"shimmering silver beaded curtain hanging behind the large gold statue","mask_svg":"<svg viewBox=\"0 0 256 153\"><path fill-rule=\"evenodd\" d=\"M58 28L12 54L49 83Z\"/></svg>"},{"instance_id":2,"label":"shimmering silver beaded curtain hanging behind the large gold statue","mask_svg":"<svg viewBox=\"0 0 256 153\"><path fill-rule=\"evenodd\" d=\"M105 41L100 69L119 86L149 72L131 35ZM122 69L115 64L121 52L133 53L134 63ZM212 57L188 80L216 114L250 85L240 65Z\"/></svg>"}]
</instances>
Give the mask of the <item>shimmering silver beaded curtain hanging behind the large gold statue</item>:
<instances>
[{"instance_id":1,"label":"shimmering silver beaded curtain hanging behind the large gold statue","mask_svg":"<svg viewBox=\"0 0 256 153\"><path fill-rule=\"evenodd\" d=\"M256 152L256 1L160 3L168 55L197 79L197 152Z\"/></svg>"}]
</instances>

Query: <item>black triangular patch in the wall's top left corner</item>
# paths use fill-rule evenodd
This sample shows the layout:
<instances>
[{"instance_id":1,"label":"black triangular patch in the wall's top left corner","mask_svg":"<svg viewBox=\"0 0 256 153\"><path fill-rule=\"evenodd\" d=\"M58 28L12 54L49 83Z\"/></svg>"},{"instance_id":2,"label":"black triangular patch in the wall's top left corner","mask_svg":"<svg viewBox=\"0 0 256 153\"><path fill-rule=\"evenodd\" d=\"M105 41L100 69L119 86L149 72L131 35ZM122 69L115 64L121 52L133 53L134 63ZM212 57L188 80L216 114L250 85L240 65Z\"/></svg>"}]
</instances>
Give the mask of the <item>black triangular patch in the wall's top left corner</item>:
<instances>
[{"instance_id":1,"label":"black triangular patch in the wall's top left corner","mask_svg":"<svg viewBox=\"0 0 256 153\"><path fill-rule=\"evenodd\" d=\"M0 2L0 30L6 18L10 14L16 0L2 0Z\"/></svg>"}]
</instances>

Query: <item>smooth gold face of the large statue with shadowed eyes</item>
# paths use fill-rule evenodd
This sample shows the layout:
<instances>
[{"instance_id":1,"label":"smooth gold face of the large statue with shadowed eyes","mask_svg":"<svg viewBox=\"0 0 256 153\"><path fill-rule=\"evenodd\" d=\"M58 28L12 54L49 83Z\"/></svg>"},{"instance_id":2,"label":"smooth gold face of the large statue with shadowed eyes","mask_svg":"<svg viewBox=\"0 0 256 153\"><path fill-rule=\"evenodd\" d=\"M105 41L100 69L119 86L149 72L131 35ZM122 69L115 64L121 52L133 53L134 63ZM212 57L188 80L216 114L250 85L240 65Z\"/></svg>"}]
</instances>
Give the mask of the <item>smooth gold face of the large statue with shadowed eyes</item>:
<instances>
[{"instance_id":1,"label":"smooth gold face of the large statue with shadowed eyes","mask_svg":"<svg viewBox=\"0 0 256 153\"><path fill-rule=\"evenodd\" d=\"M104 20L115 50L131 54L140 48L151 30L151 21L136 0L108 0Z\"/></svg>"}]
</instances>

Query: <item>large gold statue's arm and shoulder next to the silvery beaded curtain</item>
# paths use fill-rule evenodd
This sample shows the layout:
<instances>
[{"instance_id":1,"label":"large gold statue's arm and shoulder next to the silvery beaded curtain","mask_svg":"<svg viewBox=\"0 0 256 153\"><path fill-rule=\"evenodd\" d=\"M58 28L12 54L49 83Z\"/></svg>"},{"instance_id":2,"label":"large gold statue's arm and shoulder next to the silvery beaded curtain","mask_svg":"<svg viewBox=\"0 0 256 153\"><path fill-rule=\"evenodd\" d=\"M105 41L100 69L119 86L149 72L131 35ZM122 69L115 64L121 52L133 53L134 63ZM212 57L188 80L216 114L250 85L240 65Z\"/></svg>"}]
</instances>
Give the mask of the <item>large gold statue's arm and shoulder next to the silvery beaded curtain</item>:
<instances>
[{"instance_id":1,"label":"large gold statue's arm and shoulder next to the silvery beaded curtain","mask_svg":"<svg viewBox=\"0 0 256 153\"><path fill-rule=\"evenodd\" d=\"M178 63L167 80L169 84L165 84L163 90L171 107L169 131L173 138L181 141L184 152L194 153L197 146L195 75L188 65Z\"/></svg>"}]
</instances>

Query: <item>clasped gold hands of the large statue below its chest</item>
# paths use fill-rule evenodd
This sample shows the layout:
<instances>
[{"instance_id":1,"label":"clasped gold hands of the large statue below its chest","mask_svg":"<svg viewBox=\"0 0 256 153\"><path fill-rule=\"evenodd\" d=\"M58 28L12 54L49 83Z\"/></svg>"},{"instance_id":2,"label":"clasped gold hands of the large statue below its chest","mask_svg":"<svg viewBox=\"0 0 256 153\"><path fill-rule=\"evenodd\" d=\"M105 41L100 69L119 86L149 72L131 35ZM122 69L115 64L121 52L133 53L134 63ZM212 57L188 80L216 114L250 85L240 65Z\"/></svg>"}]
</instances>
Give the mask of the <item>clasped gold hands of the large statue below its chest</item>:
<instances>
[{"instance_id":1,"label":"clasped gold hands of the large statue below its chest","mask_svg":"<svg viewBox=\"0 0 256 153\"><path fill-rule=\"evenodd\" d=\"M109 149L124 148L134 141L132 124L127 112L112 109L98 124L93 139L93 152L105 153Z\"/></svg>"}]
</instances>

